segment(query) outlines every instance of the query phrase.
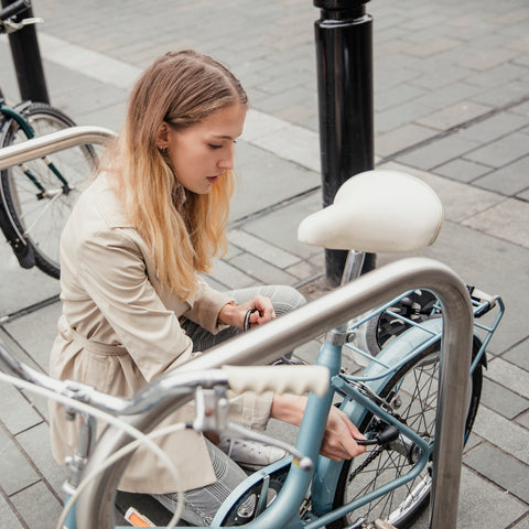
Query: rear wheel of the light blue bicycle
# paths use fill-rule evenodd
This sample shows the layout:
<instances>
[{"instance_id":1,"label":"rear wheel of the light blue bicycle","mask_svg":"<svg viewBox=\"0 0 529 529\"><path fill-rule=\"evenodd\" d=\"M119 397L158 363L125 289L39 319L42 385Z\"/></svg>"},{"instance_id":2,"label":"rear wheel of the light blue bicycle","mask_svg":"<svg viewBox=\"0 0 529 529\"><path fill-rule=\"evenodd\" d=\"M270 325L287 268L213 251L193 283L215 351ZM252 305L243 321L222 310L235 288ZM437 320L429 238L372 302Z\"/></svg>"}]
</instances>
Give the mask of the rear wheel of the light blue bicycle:
<instances>
[{"instance_id":1,"label":"rear wheel of the light blue bicycle","mask_svg":"<svg viewBox=\"0 0 529 529\"><path fill-rule=\"evenodd\" d=\"M474 337L473 357L479 347L479 341ZM380 397L396 409L400 420L429 441L434 438L439 359L440 345L438 343L404 364L380 392ZM482 378L482 365L478 364L471 377L468 389L465 442L479 406ZM368 414L359 430L363 433L369 433L384 427L378 418ZM346 461L336 487L334 508L406 474L415 460L414 445L401 438L387 446L376 446L360 457ZM366 504L350 512L348 517L337 520L328 527L331 529L349 527L361 518L365 519L365 522L358 527L363 529L373 529L373 522L378 518L392 523L398 529L410 527L429 506L431 474L432 462L414 479Z\"/></svg>"}]
</instances>

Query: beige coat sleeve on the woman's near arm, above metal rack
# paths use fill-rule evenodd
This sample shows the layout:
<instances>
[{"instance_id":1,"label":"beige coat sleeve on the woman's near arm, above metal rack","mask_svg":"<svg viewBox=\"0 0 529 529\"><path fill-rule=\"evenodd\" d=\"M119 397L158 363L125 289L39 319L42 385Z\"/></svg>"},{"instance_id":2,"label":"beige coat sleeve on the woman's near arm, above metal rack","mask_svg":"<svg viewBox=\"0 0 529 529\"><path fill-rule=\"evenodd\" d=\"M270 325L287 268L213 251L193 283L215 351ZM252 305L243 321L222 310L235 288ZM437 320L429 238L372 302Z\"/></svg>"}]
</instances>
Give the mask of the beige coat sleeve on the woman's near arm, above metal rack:
<instances>
[{"instance_id":1,"label":"beige coat sleeve on the woman's near arm, above metal rack","mask_svg":"<svg viewBox=\"0 0 529 529\"><path fill-rule=\"evenodd\" d=\"M149 281L143 256L123 230L105 230L77 247L78 281L145 380L193 357L193 344Z\"/></svg>"}]
</instances>

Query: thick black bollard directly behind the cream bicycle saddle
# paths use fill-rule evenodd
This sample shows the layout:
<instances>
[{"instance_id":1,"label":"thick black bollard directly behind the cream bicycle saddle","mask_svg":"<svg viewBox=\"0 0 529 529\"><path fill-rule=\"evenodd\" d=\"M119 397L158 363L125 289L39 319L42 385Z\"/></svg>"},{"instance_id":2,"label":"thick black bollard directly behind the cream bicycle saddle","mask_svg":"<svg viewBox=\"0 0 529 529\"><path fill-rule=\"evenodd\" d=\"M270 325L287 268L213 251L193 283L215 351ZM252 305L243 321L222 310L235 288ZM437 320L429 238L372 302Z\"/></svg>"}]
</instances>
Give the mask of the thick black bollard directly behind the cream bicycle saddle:
<instances>
[{"instance_id":1,"label":"thick black bollard directly behind the cream bicycle saddle","mask_svg":"<svg viewBox=\"0 0 529 529\"><path fill-rule=\"evenodd\" d=\"M314 0L323 207L350 176L374 168L373 19L369 0ZM339 284L347 251L325 250L327 282ZM368 253L363 271L375 268Z\"/></svg>"}]
</instances>

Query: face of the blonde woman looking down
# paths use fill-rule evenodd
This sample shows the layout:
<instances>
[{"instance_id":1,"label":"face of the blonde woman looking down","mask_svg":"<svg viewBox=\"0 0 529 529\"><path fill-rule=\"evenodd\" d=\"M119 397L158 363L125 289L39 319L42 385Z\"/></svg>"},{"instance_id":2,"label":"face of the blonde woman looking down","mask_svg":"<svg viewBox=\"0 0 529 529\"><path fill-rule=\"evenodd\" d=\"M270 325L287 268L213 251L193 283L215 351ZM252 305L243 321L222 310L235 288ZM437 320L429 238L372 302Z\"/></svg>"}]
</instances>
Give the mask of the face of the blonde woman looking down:
<instances>
[{"instance_id":1,"label":"face of the blonde woman looking down","mask_svg":"<svg viewBox=\"0 0 529 529\"><path fill-rule=\"evenodd\" d=\"M234 143L242 133L246 107L229 105L183 130L162 127L158 147L166 147L174 174L197 194L212 191L226 170L234 169Z\"/></svg>"}]
</instances>

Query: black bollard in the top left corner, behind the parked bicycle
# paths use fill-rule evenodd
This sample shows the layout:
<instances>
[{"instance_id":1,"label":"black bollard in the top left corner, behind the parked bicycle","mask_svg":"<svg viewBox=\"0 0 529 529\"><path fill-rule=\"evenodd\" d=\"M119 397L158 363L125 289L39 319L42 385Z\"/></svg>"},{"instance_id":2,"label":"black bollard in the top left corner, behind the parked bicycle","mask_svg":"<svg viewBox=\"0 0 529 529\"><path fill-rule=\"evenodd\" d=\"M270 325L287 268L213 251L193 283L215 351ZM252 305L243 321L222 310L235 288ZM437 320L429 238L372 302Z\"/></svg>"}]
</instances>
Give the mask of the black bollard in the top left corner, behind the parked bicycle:
<instances>
[{"instance_id":1,"label":"black bollard in the top left corner, behind the parked bicycle","mask_svg":"<svg viewBox=\"0 0 529 529\"><path fill-rule=\"evenodd\" d=\"M7 8L17 0L2 0L2 8ZM31 2L24 2L28 7L19 12L17 21L33 17ZM17 72L20 96L23 100L50 102L44 68L42 66L39 41L34 24L29 24L19 31L9 34L11 56Z\"/></svg>"}]
</instances>

